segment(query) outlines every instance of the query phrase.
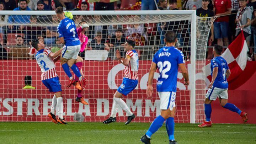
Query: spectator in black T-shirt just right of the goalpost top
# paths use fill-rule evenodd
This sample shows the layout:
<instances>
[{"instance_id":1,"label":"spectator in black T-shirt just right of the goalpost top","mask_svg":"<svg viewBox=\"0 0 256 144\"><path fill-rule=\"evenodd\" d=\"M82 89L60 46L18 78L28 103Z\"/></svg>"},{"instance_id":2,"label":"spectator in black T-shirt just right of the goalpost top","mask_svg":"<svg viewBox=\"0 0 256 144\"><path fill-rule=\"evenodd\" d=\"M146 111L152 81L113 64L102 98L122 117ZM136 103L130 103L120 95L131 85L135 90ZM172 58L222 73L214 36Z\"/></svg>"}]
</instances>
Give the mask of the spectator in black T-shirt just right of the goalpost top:
<instances>
[{"instance_id":1,"label":"spectator in black T-shirt just right of the goalpost top","mask_svg":"<svg viewBox=\"0 0 256 144\"><path fill-rule=\"evenodd\" d=\"M210 0L202 0L202 7L196 10L196 15L199 17L213 17L214 13L211 9L208 8ZM203 20L203 19L202 19ZM214 29L213 25L210 31L210 42L214 41Z\"/></svg>"}]
</instances>

